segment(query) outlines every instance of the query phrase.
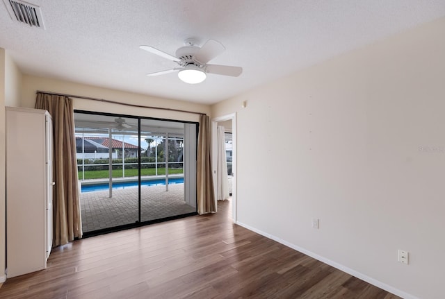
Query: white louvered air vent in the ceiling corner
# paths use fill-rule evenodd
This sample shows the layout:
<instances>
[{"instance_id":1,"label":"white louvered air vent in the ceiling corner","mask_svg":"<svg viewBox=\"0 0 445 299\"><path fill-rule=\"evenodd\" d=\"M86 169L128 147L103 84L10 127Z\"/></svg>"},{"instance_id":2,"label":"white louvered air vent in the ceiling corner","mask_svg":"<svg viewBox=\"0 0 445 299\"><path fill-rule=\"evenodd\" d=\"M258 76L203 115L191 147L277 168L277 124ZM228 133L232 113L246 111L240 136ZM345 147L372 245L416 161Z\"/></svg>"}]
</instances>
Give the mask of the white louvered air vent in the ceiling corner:
<instances>
[{"instance_id":1,"label":"white louvered air vent in the ceiling corner","mask_svg":"<svg viewBox=\"0 0 445 299\"><path fill-rule=\"evenodd\" d=\"M11 19L29 26L44 29L40 7L25 1L3 0Z\"/></svg>"}]
</instances>

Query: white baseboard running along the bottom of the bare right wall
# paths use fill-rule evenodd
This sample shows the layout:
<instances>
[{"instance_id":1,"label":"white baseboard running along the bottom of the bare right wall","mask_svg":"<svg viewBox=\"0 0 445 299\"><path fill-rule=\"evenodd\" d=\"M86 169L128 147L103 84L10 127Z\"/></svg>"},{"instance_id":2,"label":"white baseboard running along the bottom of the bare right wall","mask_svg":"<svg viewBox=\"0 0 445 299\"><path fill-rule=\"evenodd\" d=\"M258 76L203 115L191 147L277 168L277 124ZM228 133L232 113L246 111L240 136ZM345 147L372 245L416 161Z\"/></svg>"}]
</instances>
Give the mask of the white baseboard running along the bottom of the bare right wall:
<instances>
[{"instance_id":1,"label":"white baseboard running along the bottom of the bare right wall","mask_svg":"<svg viewBox=\"0 0 445 299\"><path fill-rule=\"evenodd\" d=\"M405 298L405 299L419 299L415 296L412 296L409 293L405 293L404 291L401 291L399 289L396 289L394 287L389 286L388 284L385 284L383 282L380 282L378 280L373 279L372 277L369 277L367 275L364 275L363 273L359 273L351 268L348 268L346 266L343 266L337 262L331 261L330 259L326 259L325 257L322 257L321 255L317 255L316 253L312 253L312 251L306 250L305 248L301 248L300 246L296 246L295 244L291 244L288 241L284 241L283 239L280 239L278 237L275 237L272 234L268 234L267 232L263 232L261 230L257 230L256 228L252 228L250 225L247 225L245 223L241 223L239 221L236 221L236 224L241 225L243 228L247 228L248 230L252 230L252 232L256 232L257 234L261 234L264 237L267 237L269 239L272 239L274 241L277 241L278 243L281 243L289 248L292 248L294 250L299 251L300 253L304 253L305 255L309 255L309 257L313 257L314 259L318 259L318 261L323 262L325 264L328 264L330 266L333 266L334 268L337 268L343 272L346 272L350 275L353 275L360 280L364 280L365 282L368 282L369 284L373 284L375 287L379 287L380 289L384 289L385 291L389 291L389 293L393 293L396 296Z\"/></svg>"}]
</instances>

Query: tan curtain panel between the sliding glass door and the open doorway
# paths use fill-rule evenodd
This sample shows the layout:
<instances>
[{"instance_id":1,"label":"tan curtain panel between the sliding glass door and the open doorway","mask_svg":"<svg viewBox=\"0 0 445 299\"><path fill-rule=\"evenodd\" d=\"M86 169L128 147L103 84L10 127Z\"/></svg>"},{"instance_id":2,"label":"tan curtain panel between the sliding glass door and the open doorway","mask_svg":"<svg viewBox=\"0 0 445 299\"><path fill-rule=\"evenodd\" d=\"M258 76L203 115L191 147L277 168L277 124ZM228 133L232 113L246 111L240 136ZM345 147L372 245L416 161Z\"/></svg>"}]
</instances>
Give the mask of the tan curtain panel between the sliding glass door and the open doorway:
<instances>
[{"instance_id":1,"label":"tan curtain panel between the sliding glass door and the open doorway","mask_svg":"<svg viewBox=\"0 0 445 299\"><path fill-rule=\"evenodd\" d=\"M210 157L210 119L207 115L200 117L200 130L197 137L197 212L206 214L216 212L213 180L211 177Z\"/></svg>"}]
</instances>

